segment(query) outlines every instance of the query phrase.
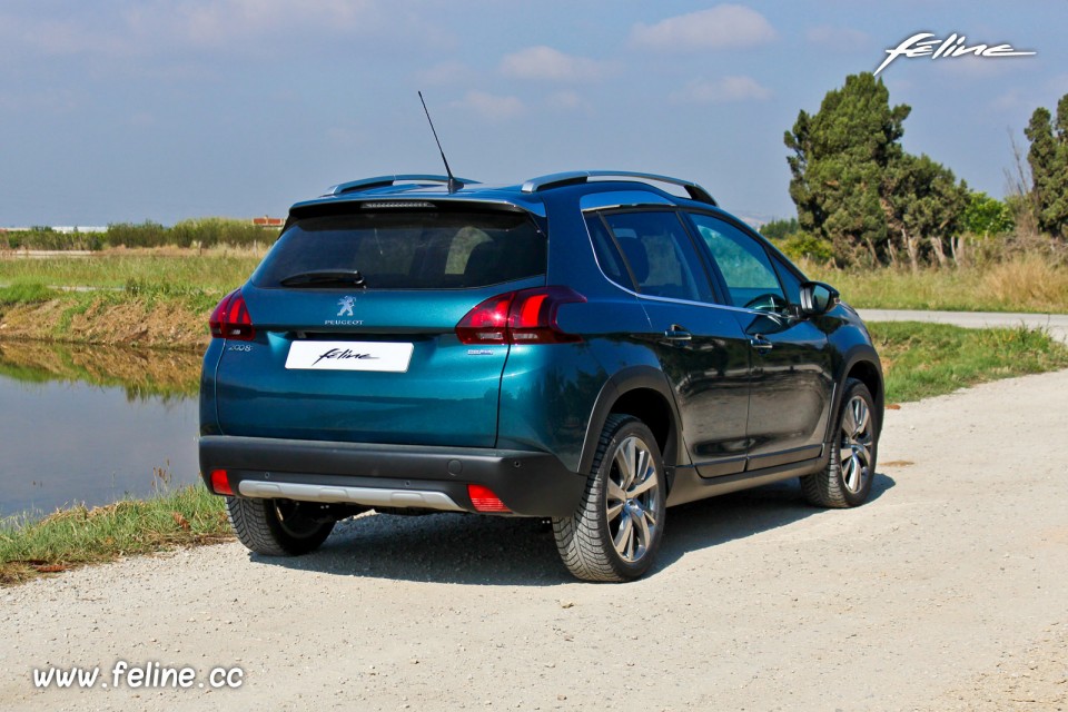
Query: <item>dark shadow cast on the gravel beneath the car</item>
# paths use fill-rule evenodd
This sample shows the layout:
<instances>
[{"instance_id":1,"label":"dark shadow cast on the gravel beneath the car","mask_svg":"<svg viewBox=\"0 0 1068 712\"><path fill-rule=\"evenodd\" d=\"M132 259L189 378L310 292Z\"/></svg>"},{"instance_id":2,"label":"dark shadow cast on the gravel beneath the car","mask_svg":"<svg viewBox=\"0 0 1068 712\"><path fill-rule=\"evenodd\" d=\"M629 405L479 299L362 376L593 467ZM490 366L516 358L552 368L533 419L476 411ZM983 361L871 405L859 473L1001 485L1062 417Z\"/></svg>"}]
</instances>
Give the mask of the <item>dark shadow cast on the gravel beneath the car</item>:
<instances>
[{"instance_id":1,"label":"dark shadow cast on the gravel beneath the car","mask_svg":"<svg viewBox=\"0 0 1068 712\"><path fill-rule=\"evenodd\" d=\"M871 501L894 485L877 474ZM823 510L807 505L797 479L668 511L655 576L686 553L785 526ZM337 576L493 586L574 584L556 554L552 526L531 518L468 514L368 514L339 522L305 556L250 554L256 564Z\"/></svg>"}]
</instances>

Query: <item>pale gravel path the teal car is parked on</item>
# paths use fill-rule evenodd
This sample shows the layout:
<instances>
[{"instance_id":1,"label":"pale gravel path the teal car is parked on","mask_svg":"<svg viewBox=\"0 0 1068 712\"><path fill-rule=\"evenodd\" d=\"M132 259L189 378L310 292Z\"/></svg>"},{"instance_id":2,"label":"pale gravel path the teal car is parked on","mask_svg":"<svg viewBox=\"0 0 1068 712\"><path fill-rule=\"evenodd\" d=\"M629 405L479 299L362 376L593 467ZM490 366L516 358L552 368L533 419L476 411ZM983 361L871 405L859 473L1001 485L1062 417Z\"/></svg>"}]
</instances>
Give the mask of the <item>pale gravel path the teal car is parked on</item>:
<instances>
[{"instance_id":1,"label":"pale gravel path the teal car is parked on","mask_svg":"<svg viewBox=\"0 0 1068 712\"><path fill-rule=\"evenodd\" d=\"M0 708L1068 709L1066 403L1068 372L907 404L870 504L790 483L671 510L629 585L571 581L537 523L435 515L0 591ZM245 678L113 689L117 660ZM108 689L36 690L48 665Z\"/></svg>"}]
</instances>

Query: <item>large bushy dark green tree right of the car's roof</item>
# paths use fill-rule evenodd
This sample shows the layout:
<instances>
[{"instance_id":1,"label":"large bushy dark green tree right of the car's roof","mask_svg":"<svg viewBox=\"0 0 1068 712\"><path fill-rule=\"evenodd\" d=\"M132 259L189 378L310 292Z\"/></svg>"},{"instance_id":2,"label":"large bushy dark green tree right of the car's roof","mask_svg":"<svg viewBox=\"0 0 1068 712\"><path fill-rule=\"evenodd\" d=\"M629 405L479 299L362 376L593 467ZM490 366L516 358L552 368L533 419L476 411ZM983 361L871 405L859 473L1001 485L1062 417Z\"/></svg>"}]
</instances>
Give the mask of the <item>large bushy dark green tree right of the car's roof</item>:
<instances>
[{"instance_id":1,"label":"large bushy dark green tree right of the car's roof","mask_svg":"<svg viewBox=\"0 0 1068 712\"><path fill-rule=\"evenodd\" d=\"M801 111L785 134L801 228L830 243L840 264L866 254L872 264L897 264L903 251L918 269L947 265L947 248L957 256L967 186L928 156L904 152L910 111L890 107L881 79L856 75L827 93L818 113Z\"/></svg>"}]
</instances>

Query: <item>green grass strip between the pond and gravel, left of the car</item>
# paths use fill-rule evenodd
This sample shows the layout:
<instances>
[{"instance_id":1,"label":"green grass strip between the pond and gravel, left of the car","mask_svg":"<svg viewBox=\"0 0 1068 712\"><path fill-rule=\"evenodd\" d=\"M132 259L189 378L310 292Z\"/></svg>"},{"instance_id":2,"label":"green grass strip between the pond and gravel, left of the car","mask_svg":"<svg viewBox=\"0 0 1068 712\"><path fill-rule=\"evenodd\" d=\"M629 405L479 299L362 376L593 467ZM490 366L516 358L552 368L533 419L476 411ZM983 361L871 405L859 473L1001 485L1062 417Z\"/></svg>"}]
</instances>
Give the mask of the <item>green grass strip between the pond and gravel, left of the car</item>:
<instances>
[{"instance_id":1,"label":"green grass strip between the pond and gravel, left of the car","mask_svg":"<svg viewBox=\"0 0 1068 712\"><path fill-rule=\"evenodd\" d=\"M189 485L150 500L0 522L0 584L87 564L233 538L222 497Z\"/></svg>"}]
</instances>

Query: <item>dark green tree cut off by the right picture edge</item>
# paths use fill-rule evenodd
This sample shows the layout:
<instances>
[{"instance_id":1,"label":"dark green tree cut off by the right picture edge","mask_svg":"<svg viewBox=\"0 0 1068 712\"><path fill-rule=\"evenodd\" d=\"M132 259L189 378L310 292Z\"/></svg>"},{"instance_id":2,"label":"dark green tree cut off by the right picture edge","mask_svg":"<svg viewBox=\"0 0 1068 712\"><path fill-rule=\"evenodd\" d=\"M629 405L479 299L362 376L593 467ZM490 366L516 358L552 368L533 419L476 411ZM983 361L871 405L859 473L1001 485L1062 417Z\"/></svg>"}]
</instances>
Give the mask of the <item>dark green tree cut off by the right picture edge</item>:
<instances>
[{"instance_id":1,"label":"dark green tree cut off by the right picture edge","mask_svg":"<svg viewBox=\"0 0 1068 712\"><path fill-rule=\"evenodd\" d=\"M1024 130L1031 142L1031 191L1038 229L1054 237L1068 237L1068 95L1057 103L1057 121L1039 107Z\"/></svg>"}]
</instances>

